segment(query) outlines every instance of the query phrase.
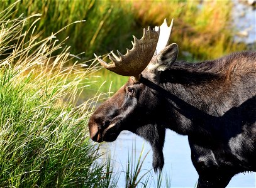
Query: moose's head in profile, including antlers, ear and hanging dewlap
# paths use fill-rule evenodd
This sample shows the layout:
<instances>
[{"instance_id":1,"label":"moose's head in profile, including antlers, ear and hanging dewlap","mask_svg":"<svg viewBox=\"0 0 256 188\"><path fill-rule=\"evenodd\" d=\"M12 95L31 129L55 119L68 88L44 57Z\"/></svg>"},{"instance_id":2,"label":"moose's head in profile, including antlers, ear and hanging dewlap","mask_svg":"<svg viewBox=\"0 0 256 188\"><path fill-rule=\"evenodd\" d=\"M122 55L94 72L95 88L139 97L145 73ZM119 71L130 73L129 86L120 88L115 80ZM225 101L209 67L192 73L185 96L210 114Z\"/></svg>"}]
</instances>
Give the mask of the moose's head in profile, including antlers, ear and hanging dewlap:
<instances>
[{"instance_id":1,"label":"moose's head in profile, including antlers, ear and hanging dewlap","mask_svg":"<svg viewBox=\"0 0 256 188\"><path fill-rule=\"evenodd\" d=\"M160 27L143 29L142 38L133 36L133 48L127 49L125 55L118 51L117 56L111 51L112 56L108 56L111 64L94 54L104 68L130 78L92 114L89 120L92 140L112 142L122 130L136 133L152 145L155 171L164 166L165 112L157 90L148 87L147 81L158 85L161 72L177 59L177 44L167 46L172 23L168 26L165 19Z\"/></svg>"}]
</instances>

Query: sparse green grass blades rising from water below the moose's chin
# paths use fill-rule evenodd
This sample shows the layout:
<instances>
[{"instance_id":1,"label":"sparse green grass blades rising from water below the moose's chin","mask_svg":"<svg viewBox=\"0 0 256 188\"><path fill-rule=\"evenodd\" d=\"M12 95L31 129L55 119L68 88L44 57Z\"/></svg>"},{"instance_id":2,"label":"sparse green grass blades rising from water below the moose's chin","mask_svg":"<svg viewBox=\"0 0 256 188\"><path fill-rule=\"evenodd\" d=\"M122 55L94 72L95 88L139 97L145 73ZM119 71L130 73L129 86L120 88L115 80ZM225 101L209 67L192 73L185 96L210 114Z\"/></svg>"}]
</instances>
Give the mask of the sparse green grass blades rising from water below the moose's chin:
<instances>
[{"instance_id":1,"label":"sparse green grass blades rising from water below the moose's chin","mask_svg":"<svg viewBox=\"0 0 256 188\"><path fill-rule=\"evenodd\" d=\"M135 188L135 187L170 187L170 178L165 174L165 179L163 180L164 172L157 172L157 179L153 178L153 169L144 169L143 165L145 159L148 157L148 151L145 153L144 147L142 146L140 153L137 153L136 142L133 140L134 144L131 149L128 150L128 158L126 159L126 165L123 167L121 164L121 171L118 169L119 162L114 160L113 153L109 150L106 154L103 155L101 160L107 161L110 169L109 173L111 176L111 188L112 187L126 187L126 188ZM103 151L106 149L106 145L102 145ZM125 156L123 156L125 157ZM110 159L110 160L109 160ZM117 164L118 163L118 164ZM124 179L123 179L124 177ZM164 182L164 184L163 184Z\"/></svg>"}]
</instances>

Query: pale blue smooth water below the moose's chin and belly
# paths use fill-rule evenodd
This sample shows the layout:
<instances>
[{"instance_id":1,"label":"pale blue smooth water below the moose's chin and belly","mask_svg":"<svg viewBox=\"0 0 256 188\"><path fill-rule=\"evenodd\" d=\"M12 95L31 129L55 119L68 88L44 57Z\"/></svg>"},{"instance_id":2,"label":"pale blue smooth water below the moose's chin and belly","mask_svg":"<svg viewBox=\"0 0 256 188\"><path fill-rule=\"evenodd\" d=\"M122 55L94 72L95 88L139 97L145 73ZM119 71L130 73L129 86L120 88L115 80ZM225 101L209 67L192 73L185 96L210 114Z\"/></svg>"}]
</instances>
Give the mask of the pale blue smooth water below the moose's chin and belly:
<instances>
[{"instance_id":1,"label":"pale blue smooth water below the moose's chin and belly","mask_svg":"<svg viewBox=\"0 0 256 188\"><path fill-rule=\"evenodd\" d=\"M134 145L136 144L136 150ZM133 145L133 147L132 147ZM126 164L128 162L128 155L136 153L136 159L138 159L142 147L144 145L143 156L149 152L142 169L152 169L152 151L149 144L135 134L124 131L121 132L118 139L114 142L103 143L101 145L102 151L109 151L111 159L115 160L114 172L125 171ZM187 136L178 135L171 130L167 130L164 145L164 158L165 165L163 172L169 177L171 187L195 187L198 180L198 173L194 169L191 162L191 152L187 141ZM152 181L150 187L156 187L157 174L151 171L150 180ZM125 187L125 174L120 175L118 182L119 187ZM165 187L165 176L163 178L162 187ZM250 187L255 188L255 172L238 174L231 179L228 187Z\"/></svg>"}]
</instances>

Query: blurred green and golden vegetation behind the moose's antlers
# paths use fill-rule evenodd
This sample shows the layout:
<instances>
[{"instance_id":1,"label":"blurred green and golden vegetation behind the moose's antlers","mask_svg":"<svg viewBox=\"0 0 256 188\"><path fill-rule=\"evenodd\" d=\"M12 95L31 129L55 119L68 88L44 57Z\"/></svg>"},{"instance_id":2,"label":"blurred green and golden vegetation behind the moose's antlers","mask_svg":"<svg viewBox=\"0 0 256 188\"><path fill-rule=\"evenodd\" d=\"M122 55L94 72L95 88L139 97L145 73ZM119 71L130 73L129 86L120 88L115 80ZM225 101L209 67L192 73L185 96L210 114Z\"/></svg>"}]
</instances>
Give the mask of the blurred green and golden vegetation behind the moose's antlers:
<instances>
[{"instance_id":1,"label":"blurred green and golden vegetation behind the moose's antlers","mask_svg":"<svg viewBox=\"0 0 256 188\"><path fill-rule=\"evenodd\" d=\"M1 1L1 10L14 2ZM132 35L142 36L142 28L174 18L171 42L179 44L179 57L204 60L246 49L245 44L233 41L231 9L232 1L25 0L16 4L12 16L42 14L36 28L39 40L74 21L86 20L57 36L60 41L69 36L66 44L74 54L85 52L83 60L94 58L93 53L125 52L132 47Z\"/></svg>"}]
</instances>

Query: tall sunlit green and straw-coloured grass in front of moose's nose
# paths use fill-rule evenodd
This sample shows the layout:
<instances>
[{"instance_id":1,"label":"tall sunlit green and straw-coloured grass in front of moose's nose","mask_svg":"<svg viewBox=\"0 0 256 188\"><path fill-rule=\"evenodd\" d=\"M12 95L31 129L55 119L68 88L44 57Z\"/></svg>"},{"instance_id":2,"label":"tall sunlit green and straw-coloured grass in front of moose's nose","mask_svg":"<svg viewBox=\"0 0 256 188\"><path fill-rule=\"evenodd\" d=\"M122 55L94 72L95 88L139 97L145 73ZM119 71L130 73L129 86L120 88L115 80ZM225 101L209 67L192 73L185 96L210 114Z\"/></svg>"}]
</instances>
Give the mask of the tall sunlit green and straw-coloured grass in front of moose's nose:
<instances>
[{"instance_id":1,"label":"tall sunlit green and straw-coloured grass in front of moose's nose","mask_svg":"<svg viewBox=\"0 0 256 188\"><path fill-rule=\"evenodd\" d=\"M86 128L98 97L74 106L95 63L66 66L69 48L38 40L38 14L10 19L13 6L0 14L0 187L108 187Z\"/></svg>"}]
</instances>

